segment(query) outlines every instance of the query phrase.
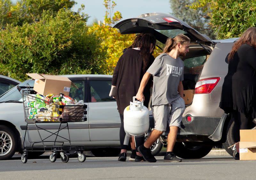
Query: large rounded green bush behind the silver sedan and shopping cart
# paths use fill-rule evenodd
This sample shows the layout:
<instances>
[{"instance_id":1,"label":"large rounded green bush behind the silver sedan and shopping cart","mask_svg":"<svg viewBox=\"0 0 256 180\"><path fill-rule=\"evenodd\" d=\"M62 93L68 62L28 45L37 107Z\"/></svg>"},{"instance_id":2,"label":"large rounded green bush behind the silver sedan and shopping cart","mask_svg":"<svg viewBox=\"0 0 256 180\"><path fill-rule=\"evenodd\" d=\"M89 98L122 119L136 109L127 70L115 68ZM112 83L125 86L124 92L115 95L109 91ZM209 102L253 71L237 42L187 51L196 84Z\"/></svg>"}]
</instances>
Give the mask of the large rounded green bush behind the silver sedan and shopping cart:
<instances>
[{"instance_id":1,"label":"large rounded green bush behind the silver sedan and shopping cart","mask_svg":"<svg viewBox=\"0 0 256 180\"><path fill-rule=\"evenodd\" d=\"M19 80L26 73L108 74L106 48L84 18L60 9L56 16L44 11L38 22L7 25L0 31L0 74Z\"/></svg>"}]
</instances>

